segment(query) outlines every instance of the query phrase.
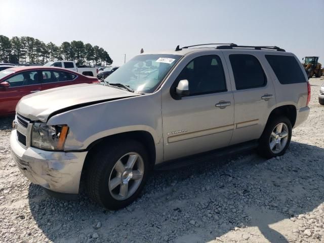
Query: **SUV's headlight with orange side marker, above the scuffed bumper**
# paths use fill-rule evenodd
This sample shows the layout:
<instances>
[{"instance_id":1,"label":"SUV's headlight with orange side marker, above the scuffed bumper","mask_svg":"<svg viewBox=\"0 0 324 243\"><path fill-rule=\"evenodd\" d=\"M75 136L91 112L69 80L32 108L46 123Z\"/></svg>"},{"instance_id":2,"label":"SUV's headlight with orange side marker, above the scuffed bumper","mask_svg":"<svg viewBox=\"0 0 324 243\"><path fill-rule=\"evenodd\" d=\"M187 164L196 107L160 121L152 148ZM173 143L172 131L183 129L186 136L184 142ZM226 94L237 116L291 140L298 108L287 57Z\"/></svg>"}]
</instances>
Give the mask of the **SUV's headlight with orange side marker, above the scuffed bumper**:
<instances>
[{"instance_id":1,"label":"SUV's headlight with orange side marker, above the scuffed bumper","mask_svg":"<svg viewBox=\"0 0 324 243\"><path fill-rule=\"evenodd\" d=\"M31 130L31 146L46 150L63 150L68 126L49 126L34 123Z\"/></svg>"}]
</instances>

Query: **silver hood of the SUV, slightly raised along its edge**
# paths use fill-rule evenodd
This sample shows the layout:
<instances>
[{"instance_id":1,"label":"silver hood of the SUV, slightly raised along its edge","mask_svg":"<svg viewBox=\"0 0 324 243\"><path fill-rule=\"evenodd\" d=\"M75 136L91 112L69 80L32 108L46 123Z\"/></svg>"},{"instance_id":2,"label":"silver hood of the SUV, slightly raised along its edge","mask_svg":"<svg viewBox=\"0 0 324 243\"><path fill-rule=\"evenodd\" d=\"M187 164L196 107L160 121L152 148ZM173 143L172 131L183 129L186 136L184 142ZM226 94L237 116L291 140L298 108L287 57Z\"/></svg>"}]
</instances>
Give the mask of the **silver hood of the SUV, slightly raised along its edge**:
<instances>
[{"instance_id":1,"label":"silver hood of the SUV, slightly raised along its edge","mask_svg":"<svg viewBox=\"0 0 324 243\"><path fill-rule=\"evenodd\" d=\"M18 102L16 112L31 120L45 122L49 115L59 110L138 95L97 84L70 85L24 96Z\"/></svg>"}]
</instances>

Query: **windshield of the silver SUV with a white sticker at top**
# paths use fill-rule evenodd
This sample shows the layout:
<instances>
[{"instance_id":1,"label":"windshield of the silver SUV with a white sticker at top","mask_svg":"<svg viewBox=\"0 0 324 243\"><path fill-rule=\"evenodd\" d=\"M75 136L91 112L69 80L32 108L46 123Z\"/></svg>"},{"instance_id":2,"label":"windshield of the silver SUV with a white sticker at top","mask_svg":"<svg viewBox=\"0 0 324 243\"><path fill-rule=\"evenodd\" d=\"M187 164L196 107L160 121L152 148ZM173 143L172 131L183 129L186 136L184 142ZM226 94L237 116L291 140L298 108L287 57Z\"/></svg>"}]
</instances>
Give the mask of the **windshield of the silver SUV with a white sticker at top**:
<instances>
[{"instance_id":1,"label":"windshield of the silver SUV with a white sticker at top","mask_svg":"<svg viewBox=\"0 0 324 243\"><path fill-rule=\"evenodd\" d=\"M106 77L105 82L120 83L136 92L152 93L180 58L180 55L139 55Z\"/></svg>"}]
</instances>

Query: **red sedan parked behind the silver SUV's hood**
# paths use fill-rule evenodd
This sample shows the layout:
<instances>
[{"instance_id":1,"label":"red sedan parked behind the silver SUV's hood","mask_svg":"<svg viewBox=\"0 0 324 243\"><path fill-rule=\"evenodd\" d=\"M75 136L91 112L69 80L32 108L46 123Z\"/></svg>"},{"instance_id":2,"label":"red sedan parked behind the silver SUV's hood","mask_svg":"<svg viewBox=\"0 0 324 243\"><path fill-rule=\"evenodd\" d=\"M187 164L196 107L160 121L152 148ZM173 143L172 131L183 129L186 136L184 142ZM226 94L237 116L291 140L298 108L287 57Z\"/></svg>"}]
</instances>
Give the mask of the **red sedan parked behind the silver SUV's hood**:
<instances>
[{"instance_id":1,"label":"red sedan parked behind the silver SUV's hood","mask_svg":"<svg viewBox=\"0 0 324 243\"><path fill-rule=\"evenodd\" d=\"M76 84L99 84L96 77L59 67L12 67L0 71L0 116L15 113L21 97L42 90Z\"/></svg>"}]
</instances>

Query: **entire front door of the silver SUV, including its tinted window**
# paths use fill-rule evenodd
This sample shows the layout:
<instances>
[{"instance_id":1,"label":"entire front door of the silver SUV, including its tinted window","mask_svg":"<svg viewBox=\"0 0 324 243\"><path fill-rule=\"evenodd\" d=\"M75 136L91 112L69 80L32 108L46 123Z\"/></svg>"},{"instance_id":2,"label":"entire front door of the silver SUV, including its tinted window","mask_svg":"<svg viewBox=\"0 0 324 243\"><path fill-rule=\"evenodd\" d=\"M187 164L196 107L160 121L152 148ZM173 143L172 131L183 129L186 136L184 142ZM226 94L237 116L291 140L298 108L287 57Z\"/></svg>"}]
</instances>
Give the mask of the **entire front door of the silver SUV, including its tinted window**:
<instances>
[{"instance_id":1,"label":"entire front door of the silver SUV, including its tinted window","mask_svg":"<svg viewBox=\"0 0 324 243\"><path fill-rule=\"evenodd\" d=\"M234 99L228 73L223 68L224 60L221 56L214 56L217 55L205 54L205 60L199 59L200 53L184 58L184 68L173 79L175 83L171 91L169 88L164 92L165 161L225 147L230 142L234 127ZM177 100L170 92L182 79L188 80L192 96Z\"/></svg>"}]
</instances>

